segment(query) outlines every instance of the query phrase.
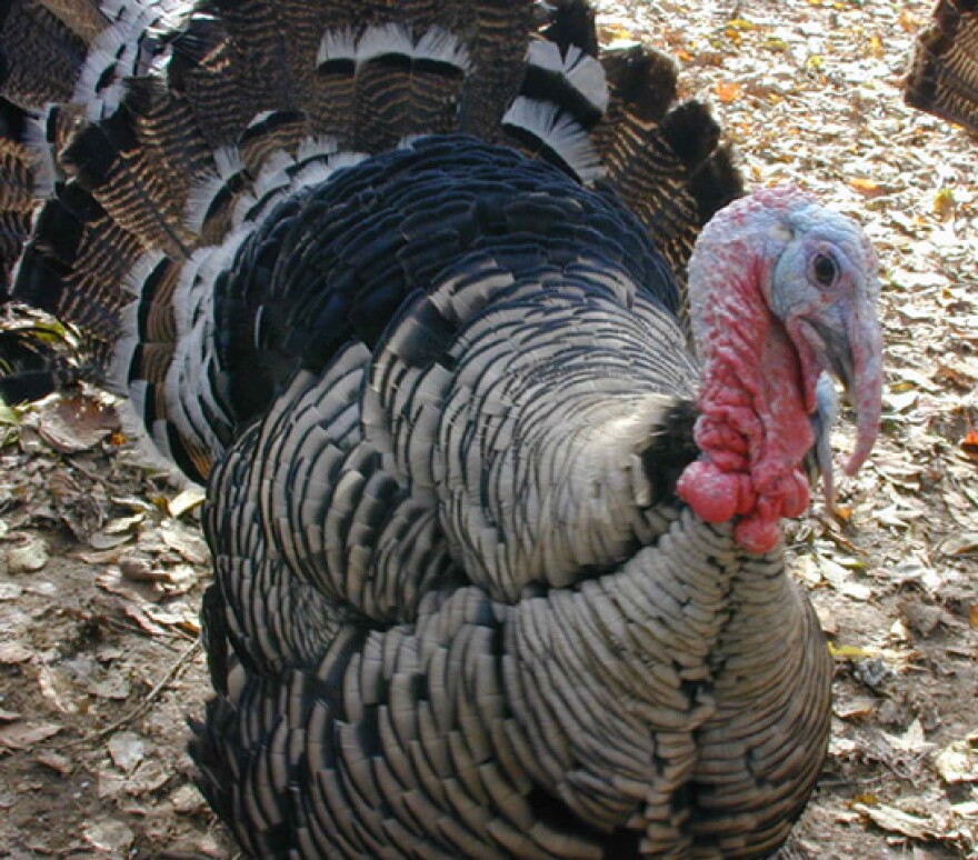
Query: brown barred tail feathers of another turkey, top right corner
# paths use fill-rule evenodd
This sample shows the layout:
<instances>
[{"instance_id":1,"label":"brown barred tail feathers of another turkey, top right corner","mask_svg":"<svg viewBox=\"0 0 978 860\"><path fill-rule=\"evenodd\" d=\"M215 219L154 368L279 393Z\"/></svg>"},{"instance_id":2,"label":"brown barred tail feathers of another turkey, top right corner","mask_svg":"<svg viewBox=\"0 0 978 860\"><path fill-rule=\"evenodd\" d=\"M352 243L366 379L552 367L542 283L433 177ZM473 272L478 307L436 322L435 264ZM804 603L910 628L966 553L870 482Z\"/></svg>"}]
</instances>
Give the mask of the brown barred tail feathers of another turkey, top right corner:
<instances>
[{"instance_id":1,"label":"brown barred tail feathers of another turkey, top right corner","mask_svg":"<svg viewBox=\"0 0 978 860\"><path fill-rule=\"evenodd\" d=\"M978 0L939 0L917 38L906 99L978 132Z\"/></svg>"}]
</instances>

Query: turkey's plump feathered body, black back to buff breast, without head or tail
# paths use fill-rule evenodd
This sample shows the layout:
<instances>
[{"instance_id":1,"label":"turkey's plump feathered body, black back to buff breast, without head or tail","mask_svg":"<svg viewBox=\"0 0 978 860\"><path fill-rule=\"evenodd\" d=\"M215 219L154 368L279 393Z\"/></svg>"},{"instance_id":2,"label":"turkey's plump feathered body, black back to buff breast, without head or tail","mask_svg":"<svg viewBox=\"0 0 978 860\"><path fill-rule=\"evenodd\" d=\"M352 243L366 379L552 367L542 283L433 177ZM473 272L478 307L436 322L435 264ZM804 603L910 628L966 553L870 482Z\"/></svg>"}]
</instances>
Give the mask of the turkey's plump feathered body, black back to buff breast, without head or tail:
<instances>
[{"instance_id":1,"label":"turkey's plump feathered body, black back to buff breast, without head or tail","mask_svg":"<svg viewBox=\"0 0 978 860\"><path fill-rule=\"evenodd\" d=\"M209 627L231 623L241 664L216 672L194 754L242 843L777 847L819 770L829 659L780 548L749 557L655 498L643 458L697 371L641 224L457 138L287 206L223 289L267 296L256 273L276 272L295 311L243 312L259 350L297 332L303 370L224 458L207 514ZM223 367L258 392L247 369L276 358Z\"/></svg>"}]
</instances>

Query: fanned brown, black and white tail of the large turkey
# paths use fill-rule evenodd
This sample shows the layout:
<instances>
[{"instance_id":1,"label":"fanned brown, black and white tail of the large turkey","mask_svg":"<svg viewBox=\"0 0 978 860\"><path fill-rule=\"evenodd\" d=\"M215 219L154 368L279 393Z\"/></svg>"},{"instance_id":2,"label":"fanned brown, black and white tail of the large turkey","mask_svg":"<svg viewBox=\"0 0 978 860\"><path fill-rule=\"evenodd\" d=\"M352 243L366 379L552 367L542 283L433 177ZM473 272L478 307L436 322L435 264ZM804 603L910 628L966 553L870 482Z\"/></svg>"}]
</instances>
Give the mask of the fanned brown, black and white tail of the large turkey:
<instances>
[{"instance_id":1,"label":"fanned brown, black and white tail of the large turkey","mask_svg":"<svg viewBox=\"0 0 978 860\"><path fill-rule=\"evenodd\" d=\"M157 447L196 479L261 411L228 396L227 351L250 342L271 298L276 312L289 301L259 278L229 313L214 283L270 211L335 170L417 134L513 146L620 194L680 286L699 228L740 193L716 122L677 106L671 61L602 53L581 0L556 3L540 32L530 0L8 10L3 92L44 111L57 179L14 294L84 333ZM21 31L48 46L60 89L17 47ZM68 104L38 103L52 99Z\"/></svg>"}]
</instances>

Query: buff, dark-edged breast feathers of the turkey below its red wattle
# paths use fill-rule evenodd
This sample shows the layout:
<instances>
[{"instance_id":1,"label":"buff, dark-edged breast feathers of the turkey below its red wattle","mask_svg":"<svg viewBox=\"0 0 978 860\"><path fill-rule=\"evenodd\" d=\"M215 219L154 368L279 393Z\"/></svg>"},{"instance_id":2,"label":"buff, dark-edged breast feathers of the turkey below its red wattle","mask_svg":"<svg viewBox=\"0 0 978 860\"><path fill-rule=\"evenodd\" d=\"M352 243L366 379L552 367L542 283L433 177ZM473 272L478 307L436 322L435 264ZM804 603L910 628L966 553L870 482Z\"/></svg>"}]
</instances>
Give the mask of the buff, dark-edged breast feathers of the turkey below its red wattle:
<instances>
[{"instance_id":1,"label":"buff, dark-edged breast feathers of the turkey below its red wattle","mask_svg":"<svg viewBox=\"0 0 978 860\"><path fill-rule=\"evenodd\" d=\"M825 756L830 664L780 546L737 556L731 527L687 511L618 573L522 601L507 637L536 777L578 814L653 852L785 838Z\"/></svg>"}]
</instances>

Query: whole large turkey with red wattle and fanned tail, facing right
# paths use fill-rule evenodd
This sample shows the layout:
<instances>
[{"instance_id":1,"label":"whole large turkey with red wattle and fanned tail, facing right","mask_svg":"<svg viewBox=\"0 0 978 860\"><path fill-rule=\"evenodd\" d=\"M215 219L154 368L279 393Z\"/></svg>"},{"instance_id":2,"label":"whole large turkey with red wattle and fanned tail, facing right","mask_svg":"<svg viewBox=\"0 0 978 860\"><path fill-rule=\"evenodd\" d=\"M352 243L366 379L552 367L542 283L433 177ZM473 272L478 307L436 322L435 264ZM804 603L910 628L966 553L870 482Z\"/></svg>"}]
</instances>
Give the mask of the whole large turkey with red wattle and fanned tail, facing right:
<instances>
[{"instance_id":1,"label":"whole large turkey with red wattle and fanned tail, facing right","mask_svg":"<svg viewBox=\"0 0 978 860\"><path fill-rule=\"evenodd\" d=\"M191 753L242 849L776 851L830 720L780 527L821 374L848 471L879 423L859 228L741 197L581 2L6 13L51 189L14 298L207 481Z\"/></svg>"}]
</instances>

